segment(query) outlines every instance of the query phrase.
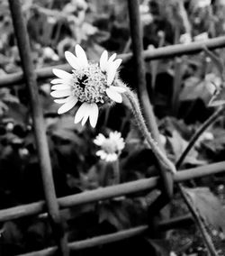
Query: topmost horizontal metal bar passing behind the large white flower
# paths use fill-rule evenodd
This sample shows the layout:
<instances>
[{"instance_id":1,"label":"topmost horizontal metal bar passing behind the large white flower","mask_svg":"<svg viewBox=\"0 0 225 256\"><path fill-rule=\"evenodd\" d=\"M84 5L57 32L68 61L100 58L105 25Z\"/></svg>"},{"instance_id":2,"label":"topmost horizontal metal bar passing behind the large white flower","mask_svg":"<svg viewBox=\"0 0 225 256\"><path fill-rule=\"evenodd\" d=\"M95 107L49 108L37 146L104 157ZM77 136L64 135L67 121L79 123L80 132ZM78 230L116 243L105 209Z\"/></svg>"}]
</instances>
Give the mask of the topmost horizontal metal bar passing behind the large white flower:
<instances>
[{"instance_id":1,"label":"topmost horizontal metal bar passing behind the large white flower","mask_svg":"<svg viewBox=\"0 0 225 256\"><path fill-rule=\"evenodd\" d=\"M143 58L145 60L166 59L185 54L194 54L202 51L203 46L206 46L210 50L225 47L225 36L220 36L206 41L194 41L189 44L175 44L166 47L160 47L154 50L144 50ZM121 58L123 63L125 63L132 58L132 54L130 52L119 54L118 58ZM67 71L71 70L67 64L40 68L35 70L37 78L39 80L52 78L54 76L52 74L52 69L64 69ZM16 72L14 74L2 76L2 78L0 78L0 87L17 86L23 82L23 72Z\"/></svg>"}]
</instances>

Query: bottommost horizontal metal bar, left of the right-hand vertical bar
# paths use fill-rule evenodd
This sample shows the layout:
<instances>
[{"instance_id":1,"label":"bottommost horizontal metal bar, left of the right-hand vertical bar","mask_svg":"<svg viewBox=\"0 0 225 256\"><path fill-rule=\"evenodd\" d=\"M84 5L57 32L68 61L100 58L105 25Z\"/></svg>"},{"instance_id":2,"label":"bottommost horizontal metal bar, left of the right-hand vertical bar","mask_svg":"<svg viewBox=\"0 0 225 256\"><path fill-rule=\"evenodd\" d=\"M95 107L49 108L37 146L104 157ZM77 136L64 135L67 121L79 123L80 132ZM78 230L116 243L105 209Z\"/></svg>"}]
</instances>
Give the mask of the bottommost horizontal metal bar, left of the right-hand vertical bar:
<instances>
[{"instance_id":1,"label":"bottommost horizontal metal bar, left of the right-hand vertical bar","mask_svg":"<svg viewBox=\"0 0 225 256\"><path fill-rule=\"evenodd\" d=\"M117 241L125 240L134 236L138 236L138 235L144 234L147 230L148 230L148 225L141 225L141 226L130 228L128 230L120 231L117 233L99 235L94 238L89 238L83 241L69 242L68 248L71 251L88 249L94 246L99 246L99 245L103 245L111 242L117 242ZM41 251L33 251L26 254L20 254L18 256L50 256L50 255L54 255L56 250L57 250L56 247L51 247Z\"/></svg>"}]
</instances>

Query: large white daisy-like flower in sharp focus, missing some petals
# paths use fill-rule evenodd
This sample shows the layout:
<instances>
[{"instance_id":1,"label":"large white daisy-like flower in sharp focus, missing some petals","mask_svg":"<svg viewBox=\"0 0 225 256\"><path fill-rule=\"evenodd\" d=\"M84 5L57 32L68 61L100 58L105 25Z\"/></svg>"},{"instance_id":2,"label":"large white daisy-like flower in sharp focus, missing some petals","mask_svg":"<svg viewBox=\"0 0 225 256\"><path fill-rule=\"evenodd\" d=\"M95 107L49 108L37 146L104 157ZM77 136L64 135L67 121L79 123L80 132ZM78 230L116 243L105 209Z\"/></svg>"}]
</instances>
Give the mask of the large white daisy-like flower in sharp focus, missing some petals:
<instances>
[{"instance_id":1,"label":"large white daisy-like flower in sharp focus, missing some petals","mask_svg":"<svg viewBox=\"0 0 225 256\"><path fill-rule=\"evenodd\" d=\"M100 106L122 102L121 93L126 89L114 84L121 59L115 59L116 53L108 59L108 52L104 50L99 63L88 61L85 50L78 44L75 52L76 56L69 51L65 52L72 73L61 69L52 70L58 78L51 81L53 91L50 95L56 98L56 103L63 104L58 114L66 113L80 103L74 122L84 125L89 118L90 124L95 127Z\"/></svg>"}]
</instances>

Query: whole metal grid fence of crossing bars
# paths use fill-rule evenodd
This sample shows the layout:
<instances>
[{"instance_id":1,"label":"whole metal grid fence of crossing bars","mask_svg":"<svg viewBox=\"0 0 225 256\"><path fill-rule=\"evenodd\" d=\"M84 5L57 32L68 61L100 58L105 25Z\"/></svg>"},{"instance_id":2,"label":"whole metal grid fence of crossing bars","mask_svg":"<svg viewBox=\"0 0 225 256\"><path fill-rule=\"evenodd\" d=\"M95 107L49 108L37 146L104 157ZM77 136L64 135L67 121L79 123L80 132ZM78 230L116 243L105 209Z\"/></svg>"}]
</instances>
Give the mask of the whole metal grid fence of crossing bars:
<instances>
[{"instance_id":1,"label":"whole metal grid fence of crossing bars","mask_svg":"<svg viewBox=\"0 0 225 256\"><path fill-rule=\"evenodd\" d=\"M144 59L165 59L180 56L183 54L193 54L202 50L202 42L193 42L188 45L174 45L163 48L143 51L141 43L141 33L139 29L139 4L138 0L128 0L129 13L130 13L130 34L133 42L133 54L121 54L119 56L123 61L134 58L138 64L137 77L139 79L139 86L145 87L145 72L143 69ZM22 60L23 72L7 75L0 78L0 87L10 87L19 85L25 82L29 88L31 98L31 111L34 124L34 133L37 143L38 155L40 160L40 170L42 176L42 183L44 187L45 201L32 203L25 206L15 206L12 208L0 210L0 222L13 220L29 215L40 215L45 213L49 217L57 246L44 249L42 251L34 251L25 255L59 255L66 256L69 251L76 251L94 246L117 242L128 239L133 236L144 234L148 231L148 225L133 227L117 233L97 236L83 241L67 242L67 234L64 230L63 221L61 220L60 210L72 207L81 206L88 203L93 203L99 200L110 199L112 197L120 197L124 195L134 194L140 191L149 192L152 189L159 187L162 180L164 185L168 181L168 177L164 177L163 169L159 177L143 178L137 181L127 182L112 187L103 187L91 191L86 191L80 194L68 197L56 197L54 182L52 178L49 147L47 137L44 130L44 120L42 109L40 105L40 97L38 94L37 79L46 79L52 77L52 68L34 69L31 59L31 49L29 45L28 33L23 21L22 8L20 1L9 0L11 14L14 22L14 32L20 51ZM204 41L204 46L208 49L216 49L225 47L225 37L219 37L211 40ZM54 67L56 68L56 66ZM67 65L58 66L60 69L68 69ZM141 91L140 91L141 96ZM150 104L149 104L150 106ZM225 170L225 161L210 164L203 167L184 169L177 172L172 177L172 183L183 182L192 178L200 178L203 176L214 175ZM166 186L166 185L165 185ZM163 191L165 195L166 191ZM166 195L166 201L159 206L164 206L169 201L170 196ZM166 231L175 228L180 224L190 224L193 222L191 215L185 215L170 219L169 221L162 221L157 224L159 231Z\"/></svg>"}]
</instances>

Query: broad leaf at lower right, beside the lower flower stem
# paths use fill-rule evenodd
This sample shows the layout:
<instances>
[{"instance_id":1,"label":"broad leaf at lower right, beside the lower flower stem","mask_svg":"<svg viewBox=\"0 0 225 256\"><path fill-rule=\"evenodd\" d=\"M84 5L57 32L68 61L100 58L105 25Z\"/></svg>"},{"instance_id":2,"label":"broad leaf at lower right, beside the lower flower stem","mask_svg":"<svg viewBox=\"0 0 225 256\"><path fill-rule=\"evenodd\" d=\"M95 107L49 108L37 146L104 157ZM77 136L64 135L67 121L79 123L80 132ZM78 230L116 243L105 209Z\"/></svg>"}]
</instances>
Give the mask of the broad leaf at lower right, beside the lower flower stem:
<instances>
[{"instance_id":1,"label":"broad leaf at lower right, beside the lower flower stem","mask_svg":"<svg viewBox=\"0 0 225 256\"><path fill-rule=\"evenodd\" d=\"M208 187L196 187L184 188L184 192L205 224L211 224L225 233L225 209L211 190Z\"/></svg>"}]
</instances>

